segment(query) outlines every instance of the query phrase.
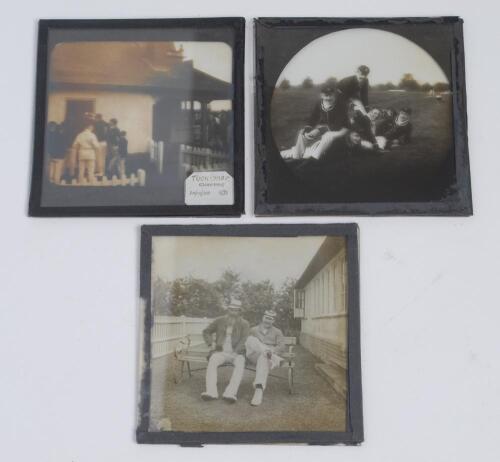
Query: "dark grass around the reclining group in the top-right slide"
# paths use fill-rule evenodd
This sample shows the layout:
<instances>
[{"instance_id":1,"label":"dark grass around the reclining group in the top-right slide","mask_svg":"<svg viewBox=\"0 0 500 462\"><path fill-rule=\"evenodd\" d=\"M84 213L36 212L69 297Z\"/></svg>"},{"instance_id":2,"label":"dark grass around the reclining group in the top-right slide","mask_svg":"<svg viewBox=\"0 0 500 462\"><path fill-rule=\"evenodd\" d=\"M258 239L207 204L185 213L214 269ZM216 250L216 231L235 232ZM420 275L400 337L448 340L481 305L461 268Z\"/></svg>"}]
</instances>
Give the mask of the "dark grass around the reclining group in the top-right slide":
<instances>
[{"instance_id":1,"label":"dark grass around the reclining group in the top-right slide","mask_svg":"<svg viewBox=\"0 0 500 462\"><path fill-rule=\"evenodd\" d=\"M316 88L276 89L271 126L279 149L295 143L318 97ZM371 92L370 104L381 108L411 107L412 142L388 152L352 156L348 165L344 162L321 171L308 169L299 175L312 188L327 192L333 201L415 202L444 198L454 182L451 95L438 101L422 92Z\"/></svg>"}]
</instances>

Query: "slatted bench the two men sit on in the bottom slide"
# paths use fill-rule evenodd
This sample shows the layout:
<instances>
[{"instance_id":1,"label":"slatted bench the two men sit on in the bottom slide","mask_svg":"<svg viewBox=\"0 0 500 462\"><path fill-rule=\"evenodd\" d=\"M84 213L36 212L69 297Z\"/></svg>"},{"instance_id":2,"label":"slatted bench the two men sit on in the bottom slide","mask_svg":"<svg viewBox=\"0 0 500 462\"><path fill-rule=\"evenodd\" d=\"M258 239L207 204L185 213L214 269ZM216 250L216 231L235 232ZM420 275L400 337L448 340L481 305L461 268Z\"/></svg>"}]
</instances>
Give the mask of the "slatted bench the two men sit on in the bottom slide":
<instances>
[{"instance_id":1,"label":"slatted bench the two men sit on in the bottom slide","mask_svg":"<svg viewBox=\"0 0 500 462\"><path fill-rule=\"evenodd\" d=\"M200 337L199 335L186 335L181 340L179 340L175 350L174 350L174 358L176 360L175 364L175 373L174 373L174 382L180 383L184 376L184 370L187 370L187 374L189 377L192 376L192 373L199 370L206 370L206 366L208 364L208 353L212 348L207 347L203 338L196 339L196 337ZM295 368L295 353L293 352L294 346L297 344L296 337L284 337L285 345L288 350L284 353L280 353L279 356L283 358L279 368L287 369L287 377L282 377L279 375L269 374L269 377L274 377L278 379L288 380L288 392L293 393L293 380L294 380L294 368ZM201 367L193 369L191 367L191 363L201 364ZM232 364L223 364L222 366L232 366ZM248 371L255 372L255 367L252 364L248 363L248 360L245 363L245 369Z\"/></svg>"}]
</instances>

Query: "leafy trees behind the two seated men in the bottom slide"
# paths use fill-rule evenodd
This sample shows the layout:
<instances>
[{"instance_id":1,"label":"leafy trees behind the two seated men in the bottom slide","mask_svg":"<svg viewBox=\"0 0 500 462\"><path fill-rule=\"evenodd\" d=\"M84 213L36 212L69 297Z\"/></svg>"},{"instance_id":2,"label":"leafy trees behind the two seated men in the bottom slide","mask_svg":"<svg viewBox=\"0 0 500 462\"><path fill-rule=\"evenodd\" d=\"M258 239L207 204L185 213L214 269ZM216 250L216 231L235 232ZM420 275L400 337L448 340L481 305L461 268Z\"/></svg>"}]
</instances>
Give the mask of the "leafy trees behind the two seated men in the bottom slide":
<instances>
[{"instance_id":1,"label":"leafy trees behind the two seated men in the bottom slide","mask_svg":"<svg viewBox=\"0 0 500 462\"><path fill-rule=\"evenodd\" d=\"M276 326L285 335L300 330L300 321L293 317L293 287L295 281L287 279L280 287L269 280L244 281L230 269L225 270L215 282L192 276L153 282L153 311L157 315L215 318L225 314L225 307L232 297L241 300L242 316L254 326L265 310L274 308Z\"/></svg>"}]
</instances>

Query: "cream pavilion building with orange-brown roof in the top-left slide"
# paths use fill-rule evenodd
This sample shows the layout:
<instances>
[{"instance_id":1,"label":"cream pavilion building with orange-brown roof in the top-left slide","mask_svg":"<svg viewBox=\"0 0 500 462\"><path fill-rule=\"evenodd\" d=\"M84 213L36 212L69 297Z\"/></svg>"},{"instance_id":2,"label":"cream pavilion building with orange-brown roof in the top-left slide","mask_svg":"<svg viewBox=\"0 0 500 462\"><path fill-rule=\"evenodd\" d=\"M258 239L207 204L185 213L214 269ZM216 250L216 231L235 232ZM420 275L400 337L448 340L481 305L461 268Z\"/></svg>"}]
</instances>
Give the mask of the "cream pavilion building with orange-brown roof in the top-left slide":
<instances>
[{"instance_id":1,"label":"cream pavilion building with orange-brown roof in the top-left slide","mask_svg":"<svg viewBox=\"0 0 500 462\"><path fill-rule=\"evenodd\" d=\"M47 121L64 121L71 137L85 114L116 118L131 155L161 144L165 166L231 165L230 149L213 144L210 105L232 99L231 83L196 69L174 42L64 42L51 51Z\"/></svg>"}]
</instances>

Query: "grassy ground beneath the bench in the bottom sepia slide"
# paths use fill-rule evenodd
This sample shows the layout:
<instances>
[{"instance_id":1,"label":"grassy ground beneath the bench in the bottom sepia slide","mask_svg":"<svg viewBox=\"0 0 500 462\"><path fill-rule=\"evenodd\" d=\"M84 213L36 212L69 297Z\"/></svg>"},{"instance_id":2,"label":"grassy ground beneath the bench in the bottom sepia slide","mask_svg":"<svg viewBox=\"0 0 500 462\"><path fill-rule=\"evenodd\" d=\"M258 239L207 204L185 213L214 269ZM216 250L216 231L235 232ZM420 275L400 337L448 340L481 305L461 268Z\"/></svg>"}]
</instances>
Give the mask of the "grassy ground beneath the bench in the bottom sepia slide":
<instances>
[{"instance_id":1,"label":"grassy ground beneath the bench in the bottom sepia slide","mask_svg":"<svg viewBox=\"0 0 500 462\"><path fill-rule=\"evenodd\" d=\"M206 402L204 369L175 384L173 360L157 358L152 364L151 430L186 432L207 431L345 431L346 400L315 369L317 358L301 346L295 348L294 393L288 393L286 370L278 369L270 377L261 406L253 407L254 372L245 371L238 402L222 399ZM222 393L233 369L220 367L219 392Z\"/></svg>"}]
</instances>

